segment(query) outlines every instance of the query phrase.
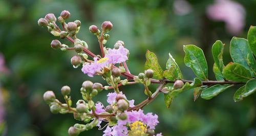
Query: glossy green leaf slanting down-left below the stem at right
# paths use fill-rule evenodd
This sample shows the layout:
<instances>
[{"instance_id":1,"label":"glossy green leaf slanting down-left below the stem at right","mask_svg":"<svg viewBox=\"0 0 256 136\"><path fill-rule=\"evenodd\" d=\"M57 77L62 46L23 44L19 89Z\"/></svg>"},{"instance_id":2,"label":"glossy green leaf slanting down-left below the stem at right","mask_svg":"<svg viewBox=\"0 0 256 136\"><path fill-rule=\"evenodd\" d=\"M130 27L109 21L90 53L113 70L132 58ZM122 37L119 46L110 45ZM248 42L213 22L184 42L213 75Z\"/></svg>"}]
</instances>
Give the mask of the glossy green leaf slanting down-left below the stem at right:
<instances>
[{"instance_id":1,"label":"glossy green leaf slanting down-left below the stem at right","mask_svg":"<svg viewBox=\"0 0 256 136\"><path fill-rule=\"evenodd\" d=\"M225 84L225 85L220 85L216 84L214 86L211 86L205 90L202 91L201 97L203 99L209 100L217 95L219 95L221 92L223 92L225 89L231 87L233 85Z\"/></svg>"}]
</instances>

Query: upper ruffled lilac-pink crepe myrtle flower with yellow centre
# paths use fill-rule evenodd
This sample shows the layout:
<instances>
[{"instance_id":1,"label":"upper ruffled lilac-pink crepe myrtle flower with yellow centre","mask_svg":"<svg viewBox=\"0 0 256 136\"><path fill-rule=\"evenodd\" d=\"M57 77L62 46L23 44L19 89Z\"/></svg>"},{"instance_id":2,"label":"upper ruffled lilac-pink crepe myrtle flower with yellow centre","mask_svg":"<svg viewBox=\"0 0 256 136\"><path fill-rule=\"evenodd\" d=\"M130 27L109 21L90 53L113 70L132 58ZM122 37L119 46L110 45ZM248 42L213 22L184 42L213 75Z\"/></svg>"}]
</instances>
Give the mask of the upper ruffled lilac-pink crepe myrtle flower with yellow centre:
<instances>
[{"instance_id":1,"label":"upper ruffled lilac-pink crepe myrtle flower with yellow centre","mask_svg":"<svg viewBox=\"0 0 256 136\"><path fill-rule=\"evenodd\" d=\"M106 54L104 58L98 60L98 58L95 57L94 62L83 64L82 72L89 77L93 77L94 74L100 72L103 67L126 61L128 59L128 53L129 50L125 49L123 46L120 46L119 49L109 49L108 54Z\"/></svg>"}]
</instances>

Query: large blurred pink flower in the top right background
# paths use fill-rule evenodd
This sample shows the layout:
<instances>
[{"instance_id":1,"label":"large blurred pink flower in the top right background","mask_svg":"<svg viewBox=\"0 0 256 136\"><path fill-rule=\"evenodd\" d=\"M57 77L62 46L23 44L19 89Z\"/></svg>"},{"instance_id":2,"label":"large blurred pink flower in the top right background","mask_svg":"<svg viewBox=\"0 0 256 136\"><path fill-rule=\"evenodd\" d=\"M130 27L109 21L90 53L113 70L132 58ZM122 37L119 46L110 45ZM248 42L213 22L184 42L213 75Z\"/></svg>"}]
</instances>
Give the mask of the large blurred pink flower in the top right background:
<instances>
[{"instance_id":1,"label":"large blurred pink flower in the top right background","mask_svg":"<svg viewBox=\"0 0 256 136\"><path fill-rule=\"evenodd\" d=\"M215 21L224 21L229 33L239 34L245 25L244 7L230 0L216 0L214 5L207 7L207 15Z\"/></svg>"}]
</instances>

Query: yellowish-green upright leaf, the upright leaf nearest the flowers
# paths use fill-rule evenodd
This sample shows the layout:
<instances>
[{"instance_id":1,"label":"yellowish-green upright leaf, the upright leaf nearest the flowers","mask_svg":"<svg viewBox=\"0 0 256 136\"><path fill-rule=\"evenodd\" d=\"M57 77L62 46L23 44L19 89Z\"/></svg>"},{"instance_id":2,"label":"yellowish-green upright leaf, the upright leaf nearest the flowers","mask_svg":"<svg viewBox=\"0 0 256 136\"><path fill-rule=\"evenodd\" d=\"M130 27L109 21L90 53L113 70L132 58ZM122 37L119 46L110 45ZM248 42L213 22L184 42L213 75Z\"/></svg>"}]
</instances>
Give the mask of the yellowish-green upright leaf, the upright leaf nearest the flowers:
<instances>
[{"instance_id":1,"label":"yellowish-green upright leaf, the upright leaf nearest the flowers","mask_svg":"<svg viewBox=\"0 0 256 136\"><path fill-rule=\"evenodd\" d=\"M146 52L146 63L145 63L145 70L151 69L154 71L154 77L155 79L161 79L163 78L163 70L161 69L157 56L155 53L147 50Z\"/></svg>"}]
</instances>

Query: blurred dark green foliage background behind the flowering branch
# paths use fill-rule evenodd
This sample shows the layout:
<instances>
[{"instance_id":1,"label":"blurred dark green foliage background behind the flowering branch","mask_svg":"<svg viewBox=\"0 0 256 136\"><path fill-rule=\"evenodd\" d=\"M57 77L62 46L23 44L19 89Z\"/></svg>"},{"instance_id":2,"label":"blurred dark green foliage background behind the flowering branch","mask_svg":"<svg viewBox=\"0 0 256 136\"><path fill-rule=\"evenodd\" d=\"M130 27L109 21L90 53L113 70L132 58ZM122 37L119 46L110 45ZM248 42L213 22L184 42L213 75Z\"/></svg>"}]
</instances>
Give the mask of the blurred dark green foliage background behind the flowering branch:
<instances>
[{"instance_id":1,"label":"blurred dark green foliage background behind the flowering branch","mask_svg":"<svg viewBox=\"0 0 256 136\"><path fill-rule=\"evenodd\" d=\"M63 100L60 88L69 85L75 103L81 99L79 88L84 80L106 85L100 77L90 78L82 74L81 67L73 68L70 58L75 52L50 48L50 42L55 37L46 28L37 25L38 18L44 17L46 13L59 16L62 10L69 10L69 21L79 19L82 22L78 38L87 41L89 49L98 54L97 39L89 32L89 26L97 25L100 28L104 20L110 20L114 27L106 46L113 48L115 41L123 40L130 50L127 65L135 75L143 72L145 52L148 49L156 53L163 68L168 53L171 53L180 65L184 78L193 79L195 75L183 62L183 45L196 44L203 49L208 61L209 79L215 80L210 51L212 43L218 39L225 43L224 62L227 64L231 61L228 52L232 36L246 38L249 26L256 25L255 0L232 2L239 3L237 9L240 14L234 12L236 8L233 12L229 10L234 7L230 4L229 8L220 9L229 10L224 11L224 18L231 19L216 21L207 14L207 10L217 1L1 0L0 52L5 56L6 67L9 69L9 72L0 74L5 109L4 121L0 125L2 134L68 135L68 128L79 122L71 114L51 114L48 105L42 101L42 94L46 90L53 90L56 97ZM217 11L216 14L224 15ZM241 29L235 31L236 28ZM67 40L60 41L71 45ZM170 109L165 107L161 94L145 106L144 111L159 116L160 123L156 132L166 136L256 135L256 94L235 103L233 94L238 87L232 87L211 100L199 98L196 102L193 102L193 90L189 90L180 94ZM127 98L135 99L136 104L146 99L142 89L141 85L121 87ZM101 92L94 100L106 105L108 92L111 90ZM94 128L80 135L102 135L102 130Z\"/></svg>"}]
</instances>

